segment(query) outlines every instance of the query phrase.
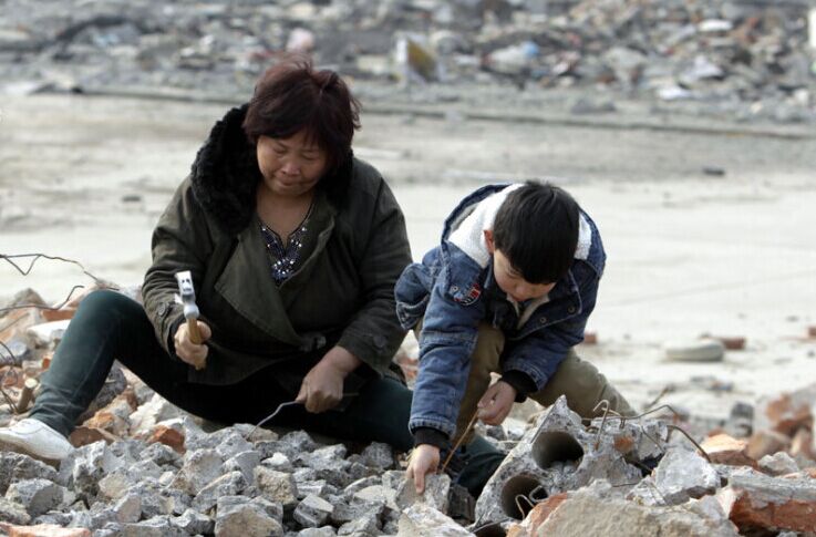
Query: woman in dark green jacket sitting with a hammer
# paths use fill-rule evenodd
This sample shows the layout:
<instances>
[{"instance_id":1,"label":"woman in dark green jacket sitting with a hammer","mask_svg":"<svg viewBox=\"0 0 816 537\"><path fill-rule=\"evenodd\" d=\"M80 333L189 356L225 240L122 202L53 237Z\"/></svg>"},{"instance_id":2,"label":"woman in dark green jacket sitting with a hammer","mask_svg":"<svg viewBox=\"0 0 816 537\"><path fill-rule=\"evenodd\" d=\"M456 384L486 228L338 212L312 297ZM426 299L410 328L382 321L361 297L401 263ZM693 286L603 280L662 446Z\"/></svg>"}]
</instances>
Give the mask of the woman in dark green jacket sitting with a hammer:
<instances>
[{"instance_id":1,"label":"woman in dark green jacket sitting with a hammer","mask_svg":"<svg viewBox=\"0 0 816 537\"><path fill-rule=\"evenodd\" d=\"M393 288L411 252L390 188L352 155L358 112L332 71L301 58L270 69L213 127L162 215L144 308L112 291L85 298L0 450L64 458L115 358L208 420L258 423L297 401L270 423L409 451L411 392L391 359L404 335ZM175 300L185 270L203 344ZM483 438L468 448L461 483L477 493L503 455Z\"/></svg>"}]
</instances>

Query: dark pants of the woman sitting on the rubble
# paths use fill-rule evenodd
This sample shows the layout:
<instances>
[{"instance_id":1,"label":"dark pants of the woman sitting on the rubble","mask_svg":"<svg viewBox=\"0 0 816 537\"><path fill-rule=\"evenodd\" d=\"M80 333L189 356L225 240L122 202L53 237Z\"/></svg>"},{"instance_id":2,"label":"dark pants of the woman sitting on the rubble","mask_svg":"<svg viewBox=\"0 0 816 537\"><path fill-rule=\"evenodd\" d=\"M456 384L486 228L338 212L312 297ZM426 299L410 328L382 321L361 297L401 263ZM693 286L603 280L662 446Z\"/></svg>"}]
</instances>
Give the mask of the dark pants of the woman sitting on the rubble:
<instances>
[{"instance_id":1,"label":"dark pants of the woman sitting on the rubble","mask_svg":"<svg viewBox=\"0 0 816 537\"><path fill-rule=\"evenodd\" d=\"M275 368L237 384L188 382L188 365L168 357L158 344L141 304L117 292L95 291L82 301L60 342L30 416L68 436L102 389L114 359L171 403L215 422L258 423L290 400L276 381ZM375 379L364 384L343 411L312 414L296 405L282 410L269 425L341 440L384 442L407 452L413 447L407 430L411 396L400 382ZM469 463L459 483L478 492L504 455L482 437L468 444L466 452Z\"/></svg>"}]
</instances>

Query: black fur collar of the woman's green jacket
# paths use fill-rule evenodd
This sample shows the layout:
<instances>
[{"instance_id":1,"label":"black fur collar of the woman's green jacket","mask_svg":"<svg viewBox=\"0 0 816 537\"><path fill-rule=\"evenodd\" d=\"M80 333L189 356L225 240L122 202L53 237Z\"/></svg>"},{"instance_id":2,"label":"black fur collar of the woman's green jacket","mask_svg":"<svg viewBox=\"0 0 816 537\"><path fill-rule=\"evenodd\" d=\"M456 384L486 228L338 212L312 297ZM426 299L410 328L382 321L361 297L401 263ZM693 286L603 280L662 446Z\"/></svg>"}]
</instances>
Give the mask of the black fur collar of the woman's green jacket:
<instances>
[{"instance_id":1,"label":"black fur collar of the woman's green jacket","mask_svg":"<svg viewBox=\"0 0 816 537\"><path fill-rule=\"evenodd\" d=\"M204 210L227 233L246 228L255 214L255 192L261 180L255 145L244 134L241 124L248 104L236 107L217 122L193 163L193 193ZM353 166L352 154L333 172L320 179L329 200L342 203Z\"/></svg>"}]
</instances>

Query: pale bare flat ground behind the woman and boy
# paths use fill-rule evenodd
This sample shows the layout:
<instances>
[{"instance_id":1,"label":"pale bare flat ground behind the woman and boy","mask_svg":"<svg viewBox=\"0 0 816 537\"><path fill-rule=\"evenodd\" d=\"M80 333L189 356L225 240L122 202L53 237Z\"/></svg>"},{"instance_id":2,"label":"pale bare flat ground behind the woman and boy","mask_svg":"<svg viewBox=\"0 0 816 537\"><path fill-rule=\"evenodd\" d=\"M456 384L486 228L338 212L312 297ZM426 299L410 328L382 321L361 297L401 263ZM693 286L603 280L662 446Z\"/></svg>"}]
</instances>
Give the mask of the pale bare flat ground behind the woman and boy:
<instances>
[{"instance_id":1,"label":"pale bare flat ground behind the woman and boy","mask_svg":"<svg viewBox=\"0 0 816 537\"><path fill-rule=\"evenodd\" d=\"M62 256L97 277L140 282L152 227L226 106L0 99L0 254ZM670 386L664 402L723 417L735 401L816 380L816 339L806 338L816 324L816 137L456 113L368 113L362 121L355 152L392 185L416 258L479 184L556 177L574 193L609 256L589 326L599 344L581 354L636 405ZM0 265L0 298L31 287L59 302L90 282L58 261L38 261L28 277ZM702 333L742 335L747 348L720 363L664 359L667 342Z\"/></svg>"}]
</instances>

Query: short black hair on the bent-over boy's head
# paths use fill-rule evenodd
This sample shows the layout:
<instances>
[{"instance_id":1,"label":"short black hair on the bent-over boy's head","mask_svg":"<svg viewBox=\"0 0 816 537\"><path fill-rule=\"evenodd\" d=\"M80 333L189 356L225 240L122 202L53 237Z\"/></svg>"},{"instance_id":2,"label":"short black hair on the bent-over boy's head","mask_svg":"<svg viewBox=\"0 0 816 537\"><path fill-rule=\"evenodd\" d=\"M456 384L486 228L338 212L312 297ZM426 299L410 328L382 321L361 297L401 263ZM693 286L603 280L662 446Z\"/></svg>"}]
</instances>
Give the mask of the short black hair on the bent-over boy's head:
<instances>
[{"instance_id":1,"label":"short black hair on the bent-over boy's head","mask_svg":"<svg viewBox=\"0 0 816 537\"><path fill-rule=\"evenodd\" d=\"M578 246L578 204L566 190L527 182L507 195L496 214L493 240L530 283L567 273Z\"/></svg>"}]
</instances>

